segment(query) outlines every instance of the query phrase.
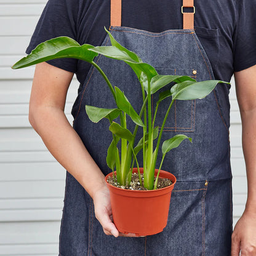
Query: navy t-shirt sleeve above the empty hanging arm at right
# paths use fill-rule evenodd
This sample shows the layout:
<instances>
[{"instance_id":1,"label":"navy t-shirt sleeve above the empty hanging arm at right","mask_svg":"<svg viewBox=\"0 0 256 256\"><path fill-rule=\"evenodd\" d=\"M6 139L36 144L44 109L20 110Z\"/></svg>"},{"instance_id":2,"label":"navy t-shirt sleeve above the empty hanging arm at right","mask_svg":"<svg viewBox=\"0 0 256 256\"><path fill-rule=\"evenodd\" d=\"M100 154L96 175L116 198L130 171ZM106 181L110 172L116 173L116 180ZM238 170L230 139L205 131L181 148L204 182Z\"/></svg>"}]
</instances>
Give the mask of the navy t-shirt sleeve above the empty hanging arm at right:
<instances>
[{"instance_id":1,"label":"navy t-shirt sleeve above the empty hanging arm at right","mask_svg":"<svg viewBox=\"0 0 256 256\"><path fill-rule=\"evenodd\" d=\"M236 1L237 22L234 35L234 71L256 65L256 1Z\"/></svg>"}]
</instances>

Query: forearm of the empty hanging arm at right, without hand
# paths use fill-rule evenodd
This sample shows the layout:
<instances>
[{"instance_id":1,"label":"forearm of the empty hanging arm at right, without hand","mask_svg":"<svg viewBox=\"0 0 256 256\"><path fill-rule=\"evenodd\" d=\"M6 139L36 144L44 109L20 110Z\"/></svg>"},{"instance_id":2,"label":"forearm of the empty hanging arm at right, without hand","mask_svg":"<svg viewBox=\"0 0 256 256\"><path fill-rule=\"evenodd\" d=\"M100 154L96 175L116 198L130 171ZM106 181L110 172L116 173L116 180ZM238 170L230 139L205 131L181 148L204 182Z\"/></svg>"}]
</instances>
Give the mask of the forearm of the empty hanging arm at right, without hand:
<instances>
[{"instance_id":1,"label":"forearm of the empty hanging arm at right, without hand","mask_svg":"<svg viewBox=\"0 0 256 256\"><path fill-rule=\"evenodd\" d=\"M246 210L256 210L256 109L241 111L242 148L246 161L247 203Z\"/></svg>"}]
</instances>

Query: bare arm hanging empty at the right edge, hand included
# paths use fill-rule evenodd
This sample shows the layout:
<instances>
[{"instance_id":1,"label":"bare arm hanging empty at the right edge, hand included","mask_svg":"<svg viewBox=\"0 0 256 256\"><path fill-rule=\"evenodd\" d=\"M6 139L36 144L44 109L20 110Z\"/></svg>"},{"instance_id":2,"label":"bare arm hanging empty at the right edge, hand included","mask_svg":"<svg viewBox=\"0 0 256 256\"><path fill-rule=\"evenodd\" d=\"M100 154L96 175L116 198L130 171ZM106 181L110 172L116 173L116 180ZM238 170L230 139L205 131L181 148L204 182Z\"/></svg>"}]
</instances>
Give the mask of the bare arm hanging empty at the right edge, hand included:
<instances>
[{"instance_id":1,"label":"bare arm hanging empty at the right edge, hand included","mask_svg":"<svg viewBox=\"0 0 256 256\"><path fill-rule=\"evenodd\" d=\"M242 119L242 149L246 161L247 202L232 235L231 255L256 255L256 65L234 74Z\"/></svg>"}]
</instances>

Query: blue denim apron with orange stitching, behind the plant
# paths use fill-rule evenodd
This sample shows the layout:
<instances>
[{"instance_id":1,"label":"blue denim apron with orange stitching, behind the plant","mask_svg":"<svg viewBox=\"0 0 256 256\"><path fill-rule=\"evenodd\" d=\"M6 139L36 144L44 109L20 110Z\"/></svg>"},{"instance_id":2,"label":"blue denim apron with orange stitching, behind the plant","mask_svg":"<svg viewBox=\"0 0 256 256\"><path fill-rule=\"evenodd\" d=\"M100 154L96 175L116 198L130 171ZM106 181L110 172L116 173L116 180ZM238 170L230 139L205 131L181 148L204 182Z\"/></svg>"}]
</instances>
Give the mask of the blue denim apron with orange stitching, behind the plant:
<instances>
[{"instance_id":1,"label":"blue denim apron with orange stitching, behind the plant","mask_svg":"<svg viewBox=\"0 0 256 256\"><path fill-rule=\"evenodd\" d=\"M118 14L121 16L121 10ZM119 43L136 52L159 74L187 75L197 81L214 79L212 66L193 29L151 33L112 25L109 30ZM102 46L110 45L106 36ZM142 92L130 67L102 55L95 62L111 83L124 91L138 113ZM170 151L162 166L163 170L177 177L169 220L162 233L145 238L106 236L95 218L89 194L66 172L59 255L230 255L232 198L228 90L227 86L218 84L202 100L176 101L169 114L162 140L186 134L192 137L193 143L184 141ZM154 95L152 100L157 101L158 95ZM166 100L159 105L156 126L161 126L169 103ZM112 138L108 131L109 122L91 122L86 114L86 105L116 107L108 86L93 67L74 103L73 126L106 175L110 172L106 165L106 151ZM129 122L128 126L134 124ZM159 167L159 161L156 167Z\"/></svg>"}]
</instances>

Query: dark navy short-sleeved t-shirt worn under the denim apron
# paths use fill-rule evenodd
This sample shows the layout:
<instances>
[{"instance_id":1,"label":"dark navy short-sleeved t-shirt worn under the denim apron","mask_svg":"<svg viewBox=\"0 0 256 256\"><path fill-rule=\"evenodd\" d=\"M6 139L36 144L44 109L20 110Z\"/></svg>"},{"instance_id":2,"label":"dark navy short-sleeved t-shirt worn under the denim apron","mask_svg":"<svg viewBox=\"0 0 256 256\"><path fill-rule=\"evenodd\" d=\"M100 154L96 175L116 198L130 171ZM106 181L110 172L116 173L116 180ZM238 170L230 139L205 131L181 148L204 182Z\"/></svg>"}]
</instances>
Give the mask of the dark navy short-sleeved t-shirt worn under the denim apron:
<instances>
[{"instance_id":1,"label":"dark navy short-sleeved t-shirt worn under the denim apron","mask_svg":"<svg viewBox=\"0 0 256 256\"><path fill-rule=\"evenodd\" d=\"M234 71L256 65L256 0L195 0L194 26L215 79L230 81ZM182 0L122 1L122 26L151 32L182 29ZM99 46L110 26L110 0L49 0L36 26L29 54L39 43L70 36ZM49 62L76 73L82 84L90 64L75 59Z\"/></svg>"}]
</instances>

